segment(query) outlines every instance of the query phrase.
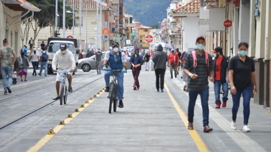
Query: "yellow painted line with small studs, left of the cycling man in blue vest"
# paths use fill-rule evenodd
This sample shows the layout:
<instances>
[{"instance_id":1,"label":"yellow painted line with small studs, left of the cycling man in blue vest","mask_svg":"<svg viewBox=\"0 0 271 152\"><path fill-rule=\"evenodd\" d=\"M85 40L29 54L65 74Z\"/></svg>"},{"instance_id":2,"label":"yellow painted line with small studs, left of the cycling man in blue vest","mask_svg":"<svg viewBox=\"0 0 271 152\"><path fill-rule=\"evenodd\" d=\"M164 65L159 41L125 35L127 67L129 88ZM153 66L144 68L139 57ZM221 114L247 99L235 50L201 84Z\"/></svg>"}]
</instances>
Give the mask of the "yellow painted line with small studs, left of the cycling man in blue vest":
<instances>
[{"instance_id":1,"label":"yellow painted line with small studs, left of the cycling man in blue vest","mask_svg":"<svg viewBox=\"0 0 271 152\"><path fill-rule=\"evenodd\" d=\"M100 94L102 94L104 92L101 91ZM100 95L99 95L100 96ZM98 97L99 97L98 96ZM95 99L90 98L88 100L88 103L84 104L84 108L79 107L78 110L79 112L73 112L71 114L71 117L67 117L64 122L65 125L68 124L73 118L75 118L78 114L80 114L82 111L84 111L86 109L86 107L88 107ZM47 142L49 142L54 136L55 134L57 134L65 125L63 124L59 124L57 126L55 126L55 128L53 129L54 134L47 134L44 137L42 137L33 147L31 147L27 152L37 152L38 150L40 150Z\"/></svg>"}]
</instances>

